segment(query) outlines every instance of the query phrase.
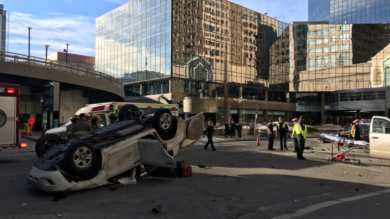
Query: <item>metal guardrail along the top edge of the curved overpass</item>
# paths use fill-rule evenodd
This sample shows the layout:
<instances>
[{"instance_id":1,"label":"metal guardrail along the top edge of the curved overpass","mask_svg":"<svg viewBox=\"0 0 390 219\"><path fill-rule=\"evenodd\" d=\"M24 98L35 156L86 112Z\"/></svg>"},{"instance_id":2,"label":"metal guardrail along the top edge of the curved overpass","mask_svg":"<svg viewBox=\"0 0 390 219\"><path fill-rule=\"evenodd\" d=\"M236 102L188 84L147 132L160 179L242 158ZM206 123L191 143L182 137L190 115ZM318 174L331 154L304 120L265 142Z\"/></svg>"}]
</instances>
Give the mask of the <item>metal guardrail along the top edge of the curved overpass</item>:
<instances>
[{"instance_id":1,"label":"metal guardrail along the top edge of the curved overpass","mask_svg":"<svg viewBox=\"0 0 390 219\"><path fill-rule=\"evenodd\" d=\"M4 51L0 51L0 60L24 63L29 65L37 65L37 66L42 66L47 68L54 68L62 71L67 71L70 73L75 73L78 75L85 75L87 77L99 78L108 81L110 83L116 84L119 87L123 87L123 84L120 82L119 79L114 78L108 74L95 71L92 69L80 67L77 65L62 63L57 60L48 60L44 58L27 56L27 55L13 53L13 52L4 52Z\"/></svg>"}]
</instances>

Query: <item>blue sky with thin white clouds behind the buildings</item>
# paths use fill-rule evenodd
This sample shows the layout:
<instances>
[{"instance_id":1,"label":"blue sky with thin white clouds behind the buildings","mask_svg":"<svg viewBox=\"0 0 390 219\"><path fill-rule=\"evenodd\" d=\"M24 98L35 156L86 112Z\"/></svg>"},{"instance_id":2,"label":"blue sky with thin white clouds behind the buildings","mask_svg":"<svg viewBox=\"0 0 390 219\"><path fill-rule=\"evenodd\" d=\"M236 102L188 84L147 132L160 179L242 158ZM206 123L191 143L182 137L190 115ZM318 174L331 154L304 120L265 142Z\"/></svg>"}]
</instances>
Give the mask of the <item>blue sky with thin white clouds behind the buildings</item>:
<instances>
[{"instance_id":1,"label":"blue sky with thin white clouds behind the buildings","mask_svg":"<svg viewBox=\"0 0 390 219\"><path fill-rule=\"evenodd\" d=\"M94 56L94 21L128 0L0 0L7 10L7 51L45 56L62 51L69 43L68 52ZM307 21L307 0L230 0L260 13L289 23ZM271 4L269 2L272 2ZM9 16L8 16L9 15Z\"/></svg>"}]
</instances>

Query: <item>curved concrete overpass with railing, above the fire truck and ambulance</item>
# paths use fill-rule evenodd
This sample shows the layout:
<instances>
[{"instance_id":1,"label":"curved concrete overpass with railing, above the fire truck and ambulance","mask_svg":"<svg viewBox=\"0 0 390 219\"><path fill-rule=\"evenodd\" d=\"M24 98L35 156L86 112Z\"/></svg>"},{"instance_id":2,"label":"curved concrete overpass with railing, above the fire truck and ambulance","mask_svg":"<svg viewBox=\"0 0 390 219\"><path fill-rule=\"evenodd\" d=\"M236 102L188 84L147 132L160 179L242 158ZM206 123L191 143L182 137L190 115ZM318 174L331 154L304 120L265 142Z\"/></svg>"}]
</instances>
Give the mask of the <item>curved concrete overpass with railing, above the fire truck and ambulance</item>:
<instances>
[{"instance_id":1,"label":"curved concrete overpass with railing, above the fire truck and ambulance","mask_svg":"<svg viewBox=\"0 0 390 219\"><path fill-rule=\"evenodd\" d=\"M53 127L54 120L66 122L85 104L124 100L122 84L112 76L80 66L11 52L0 52L0 82L20 85L21 117L32 116L35 120L42 118L47 96L45 87L51 84L54 94L51 97L52 108L46 109L50 121L48 128ZM39 128L36 123L36 130Z\"/></svg>"}]
</instances>

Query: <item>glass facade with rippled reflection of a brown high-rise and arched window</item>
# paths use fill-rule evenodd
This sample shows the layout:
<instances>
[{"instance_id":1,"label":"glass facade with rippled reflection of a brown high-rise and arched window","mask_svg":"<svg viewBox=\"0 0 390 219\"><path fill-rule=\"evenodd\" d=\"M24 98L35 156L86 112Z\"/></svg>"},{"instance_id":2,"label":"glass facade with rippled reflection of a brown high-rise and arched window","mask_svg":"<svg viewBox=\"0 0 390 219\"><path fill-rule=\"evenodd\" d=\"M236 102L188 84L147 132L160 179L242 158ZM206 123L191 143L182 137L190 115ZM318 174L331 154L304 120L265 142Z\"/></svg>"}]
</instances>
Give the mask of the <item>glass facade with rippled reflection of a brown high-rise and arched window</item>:
<instances>
[{"instance_id":1,"label":"glass facade with rippled reflection of a brown high-rise and arched window","mask_svg":"<svg viewBox=\"0 0 390 219\"><path fill-rule=\"evenodd\" d=\"M172 0L172 77L176 90L209 89L261 99L269 87L269 48L287 26L225 0ZM230 92L231 91L231 92Z\"/></svg>"}]
</instances>

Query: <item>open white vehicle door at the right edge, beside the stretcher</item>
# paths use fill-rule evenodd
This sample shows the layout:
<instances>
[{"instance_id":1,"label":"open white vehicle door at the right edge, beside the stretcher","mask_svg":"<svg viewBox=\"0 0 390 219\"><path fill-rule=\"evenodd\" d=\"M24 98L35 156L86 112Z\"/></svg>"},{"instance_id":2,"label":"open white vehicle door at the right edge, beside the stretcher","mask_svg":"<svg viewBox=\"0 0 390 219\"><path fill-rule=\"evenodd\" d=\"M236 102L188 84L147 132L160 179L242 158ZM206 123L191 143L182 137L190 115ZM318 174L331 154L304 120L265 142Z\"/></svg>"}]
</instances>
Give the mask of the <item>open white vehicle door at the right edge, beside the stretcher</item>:
<instances>
[{"instance_id":1,"label":"open white vehicle door at the right edge, beside the stretcher","mask_svg":"<svg viewBox=\"0 0 390 219\"><path fill-rule=\"evenodd\" d=\"M370 155L390 159L390 120L386 117L372 117L370 126Z\"/></svg>"}]
</instances>

